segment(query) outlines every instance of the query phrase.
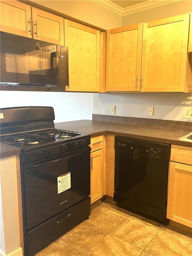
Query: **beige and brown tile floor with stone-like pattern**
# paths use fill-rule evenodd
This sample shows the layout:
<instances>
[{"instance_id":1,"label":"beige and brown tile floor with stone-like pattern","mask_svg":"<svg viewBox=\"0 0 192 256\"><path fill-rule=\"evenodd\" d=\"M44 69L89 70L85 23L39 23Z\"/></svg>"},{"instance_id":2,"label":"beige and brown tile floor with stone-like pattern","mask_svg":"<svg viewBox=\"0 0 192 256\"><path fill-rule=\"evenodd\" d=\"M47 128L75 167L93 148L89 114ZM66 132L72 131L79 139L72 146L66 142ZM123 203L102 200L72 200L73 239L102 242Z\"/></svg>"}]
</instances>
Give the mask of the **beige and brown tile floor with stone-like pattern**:
<instances>
[{"instance_id":1,"label":"beige and brown tile floor with stone-like pattern","mask_svg":"<svg viewBox=\"0 0 192 256\"><path fill-rule=\"evenodd\" d=\"M35 256L190 256L192 234L104 201Z\"/></svg>"}]
</instances>

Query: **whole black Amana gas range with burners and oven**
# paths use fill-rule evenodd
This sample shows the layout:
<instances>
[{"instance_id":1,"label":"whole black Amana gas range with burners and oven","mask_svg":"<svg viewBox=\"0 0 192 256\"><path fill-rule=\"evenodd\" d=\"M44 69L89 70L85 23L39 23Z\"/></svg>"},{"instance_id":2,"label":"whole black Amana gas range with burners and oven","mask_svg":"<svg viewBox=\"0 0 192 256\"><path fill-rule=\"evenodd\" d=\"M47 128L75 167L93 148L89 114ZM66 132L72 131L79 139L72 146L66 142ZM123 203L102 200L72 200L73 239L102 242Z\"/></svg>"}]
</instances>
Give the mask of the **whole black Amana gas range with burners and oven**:
<instances>
[{"instance_id":1,"label":"whole black Amana gas range with burners and oven","mask_svg":"<svg viewBox=\"0 0 192 256\"><path fill-rule=\"evenodd\" d=\"M90 215L90 135L54 119L52 107L1 109L1 142L21 148L25 256Z\"/></svg>"}]
</instances>

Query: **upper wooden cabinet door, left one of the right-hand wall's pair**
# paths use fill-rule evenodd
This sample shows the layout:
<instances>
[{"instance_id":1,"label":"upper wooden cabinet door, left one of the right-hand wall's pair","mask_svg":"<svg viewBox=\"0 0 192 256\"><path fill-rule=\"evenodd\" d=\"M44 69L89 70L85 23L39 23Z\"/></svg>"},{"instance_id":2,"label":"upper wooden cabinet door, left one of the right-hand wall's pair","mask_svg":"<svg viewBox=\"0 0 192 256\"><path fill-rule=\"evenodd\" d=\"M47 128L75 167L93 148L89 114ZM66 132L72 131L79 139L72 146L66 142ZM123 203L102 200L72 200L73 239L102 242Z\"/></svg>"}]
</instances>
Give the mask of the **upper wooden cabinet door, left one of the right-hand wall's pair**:
<instances>
[{"instance_id":1,"label":"upper wooden cabinet door, left one of the right-hand wall's pair","mask_svg":"<svg viewBox=\"0 0 192 256\"><path fill-rule=\"evenodd\" d=\"M107 31L106 91L140 91L143 24Z\"/></svg>"}]
</instances>

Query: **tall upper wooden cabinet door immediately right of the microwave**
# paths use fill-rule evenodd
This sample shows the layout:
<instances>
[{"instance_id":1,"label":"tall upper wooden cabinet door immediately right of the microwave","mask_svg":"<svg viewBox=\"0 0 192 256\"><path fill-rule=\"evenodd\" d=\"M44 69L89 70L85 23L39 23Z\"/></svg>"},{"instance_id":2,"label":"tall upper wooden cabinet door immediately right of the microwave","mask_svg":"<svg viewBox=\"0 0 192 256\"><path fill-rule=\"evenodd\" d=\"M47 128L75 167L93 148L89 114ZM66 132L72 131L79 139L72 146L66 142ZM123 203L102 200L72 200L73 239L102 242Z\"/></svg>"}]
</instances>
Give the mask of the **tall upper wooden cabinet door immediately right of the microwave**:
<instances>
[{"instance_id":1,"label":"tall upper wooden cabinet door immediately right of the microwave","mask_svg":"<svg viewBox=\"0 0 192 256\"><path fill-rule=\"evenodd\" d=\"M65 46L69 47L68 91L99 91L99 30L65 20Z\"/></svg>"}]
</instances>

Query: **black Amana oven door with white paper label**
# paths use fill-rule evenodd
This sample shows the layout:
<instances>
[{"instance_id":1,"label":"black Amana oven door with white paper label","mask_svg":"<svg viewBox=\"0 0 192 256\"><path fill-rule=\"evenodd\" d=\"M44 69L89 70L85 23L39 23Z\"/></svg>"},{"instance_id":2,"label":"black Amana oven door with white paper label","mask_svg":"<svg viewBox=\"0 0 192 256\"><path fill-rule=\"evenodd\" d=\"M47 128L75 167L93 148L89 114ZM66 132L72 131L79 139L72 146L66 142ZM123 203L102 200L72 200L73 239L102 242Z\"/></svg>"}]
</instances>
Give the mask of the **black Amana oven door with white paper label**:
<instances>
[{"instance_id":1,"label":"black Amana oven door with white paper label","mask_svg":"<svg viewBox=\"0 0 192 256\"><path fill-rule=\"evenodd\" d=\"M90 195L90 147L24 168L27 229Z\"/></svg>"}]
</instances>

